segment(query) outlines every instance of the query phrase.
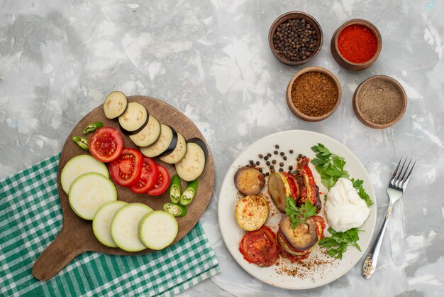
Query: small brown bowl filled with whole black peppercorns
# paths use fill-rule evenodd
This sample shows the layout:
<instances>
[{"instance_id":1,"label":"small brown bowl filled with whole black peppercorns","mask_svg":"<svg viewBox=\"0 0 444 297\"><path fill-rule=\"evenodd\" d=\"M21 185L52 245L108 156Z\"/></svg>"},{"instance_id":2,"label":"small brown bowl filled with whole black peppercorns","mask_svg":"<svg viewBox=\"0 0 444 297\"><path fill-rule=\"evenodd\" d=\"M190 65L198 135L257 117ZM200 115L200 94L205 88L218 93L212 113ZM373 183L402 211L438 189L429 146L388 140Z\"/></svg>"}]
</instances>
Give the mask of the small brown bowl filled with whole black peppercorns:
<instances>
[{"instance_id":1,"label":"small brown bowl filled with whole black peppercorns","mask_svg":"<svg viewBox=\"0 0 444 297\"><path fill-rule=\"evenodd\" d=\"M274 57L287 65L302 65L321 50L322 29L313 16L302 11L289 11L272 23L268 43Z\"/></svg>"}]
</instances>

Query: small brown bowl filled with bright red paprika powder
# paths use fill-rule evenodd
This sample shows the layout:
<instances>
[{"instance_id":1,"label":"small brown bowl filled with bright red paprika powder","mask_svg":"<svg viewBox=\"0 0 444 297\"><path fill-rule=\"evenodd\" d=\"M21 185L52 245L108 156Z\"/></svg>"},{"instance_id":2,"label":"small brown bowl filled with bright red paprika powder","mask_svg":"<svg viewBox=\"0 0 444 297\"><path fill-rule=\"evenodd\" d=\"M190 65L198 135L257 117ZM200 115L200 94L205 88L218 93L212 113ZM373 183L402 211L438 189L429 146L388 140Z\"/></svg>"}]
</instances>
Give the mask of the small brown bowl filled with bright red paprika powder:
<instances>
[{"instance_id":1,"label":"small brown bowl filled with bright red paprika powder","mask_svg":"<svg viewBox=\"0 0 444 297\"><path fill-rule=\"evenodd\" d=\"M381 52L381 33L370 21L355 18L335 31L330 48L333 58L343 68L365 70L376 62Z\"/></svg>"}]
</instances>

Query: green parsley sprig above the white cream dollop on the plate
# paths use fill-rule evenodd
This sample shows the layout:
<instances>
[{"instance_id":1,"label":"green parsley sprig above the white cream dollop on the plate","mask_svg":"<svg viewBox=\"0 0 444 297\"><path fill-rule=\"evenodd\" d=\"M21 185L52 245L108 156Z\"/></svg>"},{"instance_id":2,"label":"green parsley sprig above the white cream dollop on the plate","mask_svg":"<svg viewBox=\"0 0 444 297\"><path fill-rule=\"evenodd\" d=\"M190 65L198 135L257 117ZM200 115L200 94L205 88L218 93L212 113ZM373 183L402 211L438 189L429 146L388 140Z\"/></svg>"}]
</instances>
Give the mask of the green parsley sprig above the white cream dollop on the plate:
<instances>
[{"instance_id":1,"label":"green parsley sprig above the white cream dollop on the plate","mask_svg":"<svg viewBox=\"0 0 444 297\"><path fill-rule=\"evenodd\" d=\"M349 178L350 174L345 171L345 158L332 153L323 144L318 144L317 146L312 146L311 150L316 153L316 158L311 160L316 171L321 175L321 183L325 185L328 190L330 190L333 185L338 181L339 178ZM362 180L350 179L353 183L353 188L357 190L357 195L367 203L367 206L373 204L370 196L365 192Z\"/></svg>"}]
</instances>

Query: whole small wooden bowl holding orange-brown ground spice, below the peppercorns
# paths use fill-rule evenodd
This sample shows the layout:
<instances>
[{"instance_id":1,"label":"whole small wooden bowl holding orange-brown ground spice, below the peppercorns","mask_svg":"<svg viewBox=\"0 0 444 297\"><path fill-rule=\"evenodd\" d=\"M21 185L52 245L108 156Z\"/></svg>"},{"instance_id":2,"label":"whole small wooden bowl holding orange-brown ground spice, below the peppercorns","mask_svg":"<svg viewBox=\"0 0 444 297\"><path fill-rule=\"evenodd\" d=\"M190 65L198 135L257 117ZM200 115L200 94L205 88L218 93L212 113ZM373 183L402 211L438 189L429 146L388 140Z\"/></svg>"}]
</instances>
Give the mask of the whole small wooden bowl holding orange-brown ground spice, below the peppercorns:
<instances>
[{"instance_id":1,"label":"whole small wooden bowl holding orange-brown ground spice, below the peppercorns","mask_svg":"<svg viewBox=\"0 0 444 297\"><path fill-rule=\"evenodd\" d=\"M289 109L304 121L321 121L333 114L340 103L340 83L325 68L308 67L299 71L287 87Z\"/></svg>"}]
</instances>

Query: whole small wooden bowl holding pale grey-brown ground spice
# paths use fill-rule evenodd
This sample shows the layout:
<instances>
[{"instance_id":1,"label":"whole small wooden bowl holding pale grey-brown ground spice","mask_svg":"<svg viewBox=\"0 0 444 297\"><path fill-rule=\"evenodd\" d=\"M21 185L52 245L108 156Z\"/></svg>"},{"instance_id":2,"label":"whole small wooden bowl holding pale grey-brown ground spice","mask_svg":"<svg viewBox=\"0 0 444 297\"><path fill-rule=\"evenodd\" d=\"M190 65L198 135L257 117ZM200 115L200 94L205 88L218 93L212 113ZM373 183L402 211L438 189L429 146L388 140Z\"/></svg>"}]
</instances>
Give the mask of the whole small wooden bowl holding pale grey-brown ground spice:
<instances>
[{"instance_id":1,"label":"whole small wooden bowl holding pale grey-brown ground spice","mask_svg":"<svg viewBox=\"0 0 444 297\"><path fill-rule=\"evenodd\" d=\"M384 129L395 124L406 111L404 88L386 75L375 75L361 84L353 95L353 110L362 124Z\"/></svg>"}]
</instances>

